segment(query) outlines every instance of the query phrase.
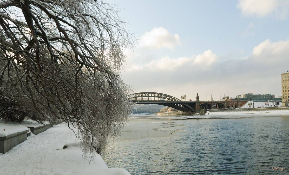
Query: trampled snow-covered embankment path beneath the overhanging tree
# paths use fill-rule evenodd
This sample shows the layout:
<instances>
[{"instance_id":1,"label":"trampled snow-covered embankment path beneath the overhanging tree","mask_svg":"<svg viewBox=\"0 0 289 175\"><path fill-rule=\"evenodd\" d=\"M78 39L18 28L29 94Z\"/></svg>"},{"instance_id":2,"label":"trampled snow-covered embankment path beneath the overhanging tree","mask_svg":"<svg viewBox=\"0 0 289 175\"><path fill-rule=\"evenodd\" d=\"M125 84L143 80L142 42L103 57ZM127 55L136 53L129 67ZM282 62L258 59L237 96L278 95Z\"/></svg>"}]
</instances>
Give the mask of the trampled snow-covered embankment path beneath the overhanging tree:
<instances>
[{"instance_id":1,"label":"trampled snow-covered embankment path beneath the overhanging tree","mask_svg":"<svg viewBox=\"0 0 289 175\"><path fill-rule=\"evenodd\" d=\"M0 123L0 130L3 125ZM0 174L130 175L121 168L108 168L98 154L90 163L83 160L78 140L64 123L37 135L31 133L26 141L0 153Z\"/></svg>"}]
</instances>

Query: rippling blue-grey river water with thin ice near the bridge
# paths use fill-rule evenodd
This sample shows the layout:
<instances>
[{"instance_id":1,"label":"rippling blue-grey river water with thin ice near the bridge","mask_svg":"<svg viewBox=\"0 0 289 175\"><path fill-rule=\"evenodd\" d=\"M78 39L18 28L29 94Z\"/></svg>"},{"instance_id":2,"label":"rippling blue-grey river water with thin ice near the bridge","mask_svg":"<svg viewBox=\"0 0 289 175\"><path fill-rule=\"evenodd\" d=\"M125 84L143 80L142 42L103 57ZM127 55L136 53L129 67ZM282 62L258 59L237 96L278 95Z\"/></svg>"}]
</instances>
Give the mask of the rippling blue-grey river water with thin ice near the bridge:
<instances>
[{"instance_id":1,"label":"rippling blue-grey river water with thin ice near the bridge","mask_svg":"<svg viewBox=\"0 0 289 175\"><path fill-rule=\"evenodd\" d=\"M102 157L131 175L289 174L288 137L289 113L139 115Z\"/></svg>"}]
</instances>

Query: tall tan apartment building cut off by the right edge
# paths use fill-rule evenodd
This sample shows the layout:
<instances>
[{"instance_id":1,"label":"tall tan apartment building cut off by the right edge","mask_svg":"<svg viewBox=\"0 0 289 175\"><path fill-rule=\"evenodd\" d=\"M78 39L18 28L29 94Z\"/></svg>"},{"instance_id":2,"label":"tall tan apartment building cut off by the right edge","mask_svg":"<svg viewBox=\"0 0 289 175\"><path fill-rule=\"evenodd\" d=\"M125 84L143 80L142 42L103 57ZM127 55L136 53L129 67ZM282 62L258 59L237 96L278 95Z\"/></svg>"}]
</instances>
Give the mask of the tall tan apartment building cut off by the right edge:
<instances>
[{"instance_id":1,"label":"tall tan apartment building cut off by the right edge","mask_svg":"<svg viewBox=\"0 0 289 175\"><path fill-rule=\"evenodd\" d=\"M281 73L282 106L289 103L289 72Z\"/></svg>"}]
</instances>

